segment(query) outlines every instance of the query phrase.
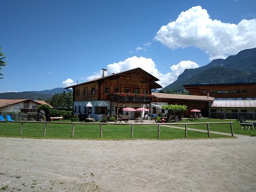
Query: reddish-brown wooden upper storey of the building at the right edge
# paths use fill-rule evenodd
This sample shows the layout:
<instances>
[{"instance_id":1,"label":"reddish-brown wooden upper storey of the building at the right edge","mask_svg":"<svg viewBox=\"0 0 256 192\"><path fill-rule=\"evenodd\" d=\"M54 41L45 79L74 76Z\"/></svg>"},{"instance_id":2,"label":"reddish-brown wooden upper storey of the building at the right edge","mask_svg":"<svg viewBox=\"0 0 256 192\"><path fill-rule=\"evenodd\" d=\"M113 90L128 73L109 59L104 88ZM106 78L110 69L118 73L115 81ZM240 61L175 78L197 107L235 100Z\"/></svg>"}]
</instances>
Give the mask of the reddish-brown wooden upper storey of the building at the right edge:
<instances>
[{"instance_id":1,"label":"reddish-brown wooden upper storey of the building at the right edge","mask_svg":"<svg viewBox=\"0 0 256 192\"><path fill-rule=\"evenodd\" d=\"M191 84L183 86L191 95L204 95L215 98L256 98L256 82Z\"/></svg>"}]
</instances>

